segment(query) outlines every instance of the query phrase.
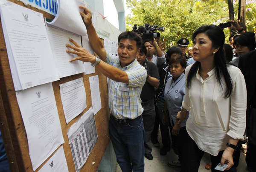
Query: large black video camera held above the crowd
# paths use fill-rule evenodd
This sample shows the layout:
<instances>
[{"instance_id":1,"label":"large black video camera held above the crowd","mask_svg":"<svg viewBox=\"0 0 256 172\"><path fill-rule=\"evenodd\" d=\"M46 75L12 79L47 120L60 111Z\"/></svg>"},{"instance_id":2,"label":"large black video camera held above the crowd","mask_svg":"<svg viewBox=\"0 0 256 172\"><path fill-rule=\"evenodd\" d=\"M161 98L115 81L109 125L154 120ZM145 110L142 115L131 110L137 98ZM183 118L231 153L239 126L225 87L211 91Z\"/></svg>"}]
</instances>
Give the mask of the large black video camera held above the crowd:
<instances>
[{"instance_id":1,"label":"large black video camera held above the crowd","mask_svg":"<svg viewBox=\"0 0 256 172\"><path fill-rule=\"evenodd\" d=\"M154 38L160 38L160 33L155 31L164 31L164 27L159 27L158 25L149 25L144 24L144 26L140 25L137 27L137 24L134 25L133 31L142 35L143 41L152 41Z\"/></svg>"}]
</instances>

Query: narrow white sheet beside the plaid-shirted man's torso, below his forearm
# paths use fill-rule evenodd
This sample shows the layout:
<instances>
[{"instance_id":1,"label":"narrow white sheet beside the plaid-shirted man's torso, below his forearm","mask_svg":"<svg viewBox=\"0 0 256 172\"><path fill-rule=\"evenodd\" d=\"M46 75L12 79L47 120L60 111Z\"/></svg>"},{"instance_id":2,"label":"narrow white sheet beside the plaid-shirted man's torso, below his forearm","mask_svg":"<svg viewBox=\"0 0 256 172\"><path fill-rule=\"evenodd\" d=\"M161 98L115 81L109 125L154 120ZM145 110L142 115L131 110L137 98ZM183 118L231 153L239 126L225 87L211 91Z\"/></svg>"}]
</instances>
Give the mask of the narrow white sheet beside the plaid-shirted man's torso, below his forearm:
<instances>
[{"instance_id":1,"label":"narrow white sheet beside the plaid-shirted man's torso, below his forearm","mask_svg":"<svg viewBox=\"0 0 256 172\"><path fill-rule=\"evenodd\" d=\"M90 76L90 91L91 91L91 98L93 104L93 113L94 115L99 112L101 109L101 99L100 99L100 92L99 92L99 76Z\"/></svg>"}]
</instances>

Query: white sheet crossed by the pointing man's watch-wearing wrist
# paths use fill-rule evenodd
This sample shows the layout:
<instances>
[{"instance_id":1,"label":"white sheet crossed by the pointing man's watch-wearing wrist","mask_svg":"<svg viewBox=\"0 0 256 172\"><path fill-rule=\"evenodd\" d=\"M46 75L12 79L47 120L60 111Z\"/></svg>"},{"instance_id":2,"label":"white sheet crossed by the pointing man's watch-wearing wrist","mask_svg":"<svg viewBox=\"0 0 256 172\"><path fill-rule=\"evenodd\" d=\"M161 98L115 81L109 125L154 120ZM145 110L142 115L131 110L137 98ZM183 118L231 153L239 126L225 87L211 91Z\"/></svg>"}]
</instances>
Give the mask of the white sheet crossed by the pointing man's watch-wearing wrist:
<instances>
[{"instance_id":1,"label":"white sheet crossed by the pointing man's watch-wearing wrist","mask_svg":"<svg viewBox=\"0 0 256 172\"><path fill-rule=\"evenodd\" d=\"M93 48L90 45L88 35L82 36L82 45L90 54L94 54ZM95 73L95 68L91 65L90 62L84 62L84 75Z\"/></svg>"}]
</instances>

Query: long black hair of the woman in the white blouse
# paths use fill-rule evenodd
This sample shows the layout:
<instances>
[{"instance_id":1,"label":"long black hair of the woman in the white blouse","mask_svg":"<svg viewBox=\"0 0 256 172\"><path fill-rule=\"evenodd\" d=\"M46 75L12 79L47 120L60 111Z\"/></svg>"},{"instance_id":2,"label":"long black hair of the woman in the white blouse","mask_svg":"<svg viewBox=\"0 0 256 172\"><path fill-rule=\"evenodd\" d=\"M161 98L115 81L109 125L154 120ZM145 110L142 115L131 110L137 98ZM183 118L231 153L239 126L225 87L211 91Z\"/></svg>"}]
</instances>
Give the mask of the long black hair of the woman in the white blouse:
<instances>
[{"instance_id":1,"label":"long black hair of the woman in the white blouse","mask_svg":"<svg viewBox=\"0 0 256 172\"><path fill-rule=\"evenodd\" d=\"M228 64L227 64L225 54L224 54L224 49L223 49L225 34L222 31L222 29L216 25L203 25L195 31L195 33L192 36L192 40L194 40L195 37L201 33L206 34L209 37L209 39L212 41L212 48L219 47L219 50L215 53L215 56L214 56L215 76L217 81L221 85L224 96L228 98L231 95L231 92L233 89L233 82L227 70ZM186 86L188 88L191 87L191 81L196 75L198 68L200 69L200 65L201 63L197 61L192 65L191 69L189 70L187 83L186 83ZM224 77L224 81L222 81L221 76ZM223 89L224 82L226 84L226 90Z\"/></svg>"}]
</instances>

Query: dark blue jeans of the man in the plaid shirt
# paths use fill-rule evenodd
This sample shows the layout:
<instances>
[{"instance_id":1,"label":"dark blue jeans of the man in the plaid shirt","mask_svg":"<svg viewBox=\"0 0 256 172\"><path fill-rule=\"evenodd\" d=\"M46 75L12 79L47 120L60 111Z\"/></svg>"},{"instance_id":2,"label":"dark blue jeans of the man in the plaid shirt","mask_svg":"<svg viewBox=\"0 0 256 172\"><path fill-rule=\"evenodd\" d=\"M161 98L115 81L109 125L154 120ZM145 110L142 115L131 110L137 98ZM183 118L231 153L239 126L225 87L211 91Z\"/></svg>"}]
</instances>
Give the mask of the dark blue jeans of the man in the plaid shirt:
<instances>
[{"instance_id":1,"label":"dark blue jeans of the man in the plaid shirt","mask_svg":"<svg viewBox=\"0 0 256 172\"><path fill-rule=\"evenodd\" d=\"M125 124L109 120L109 135L122 172L144 172L144 127L142 116Z\"/></svg>"}]
</instances>

